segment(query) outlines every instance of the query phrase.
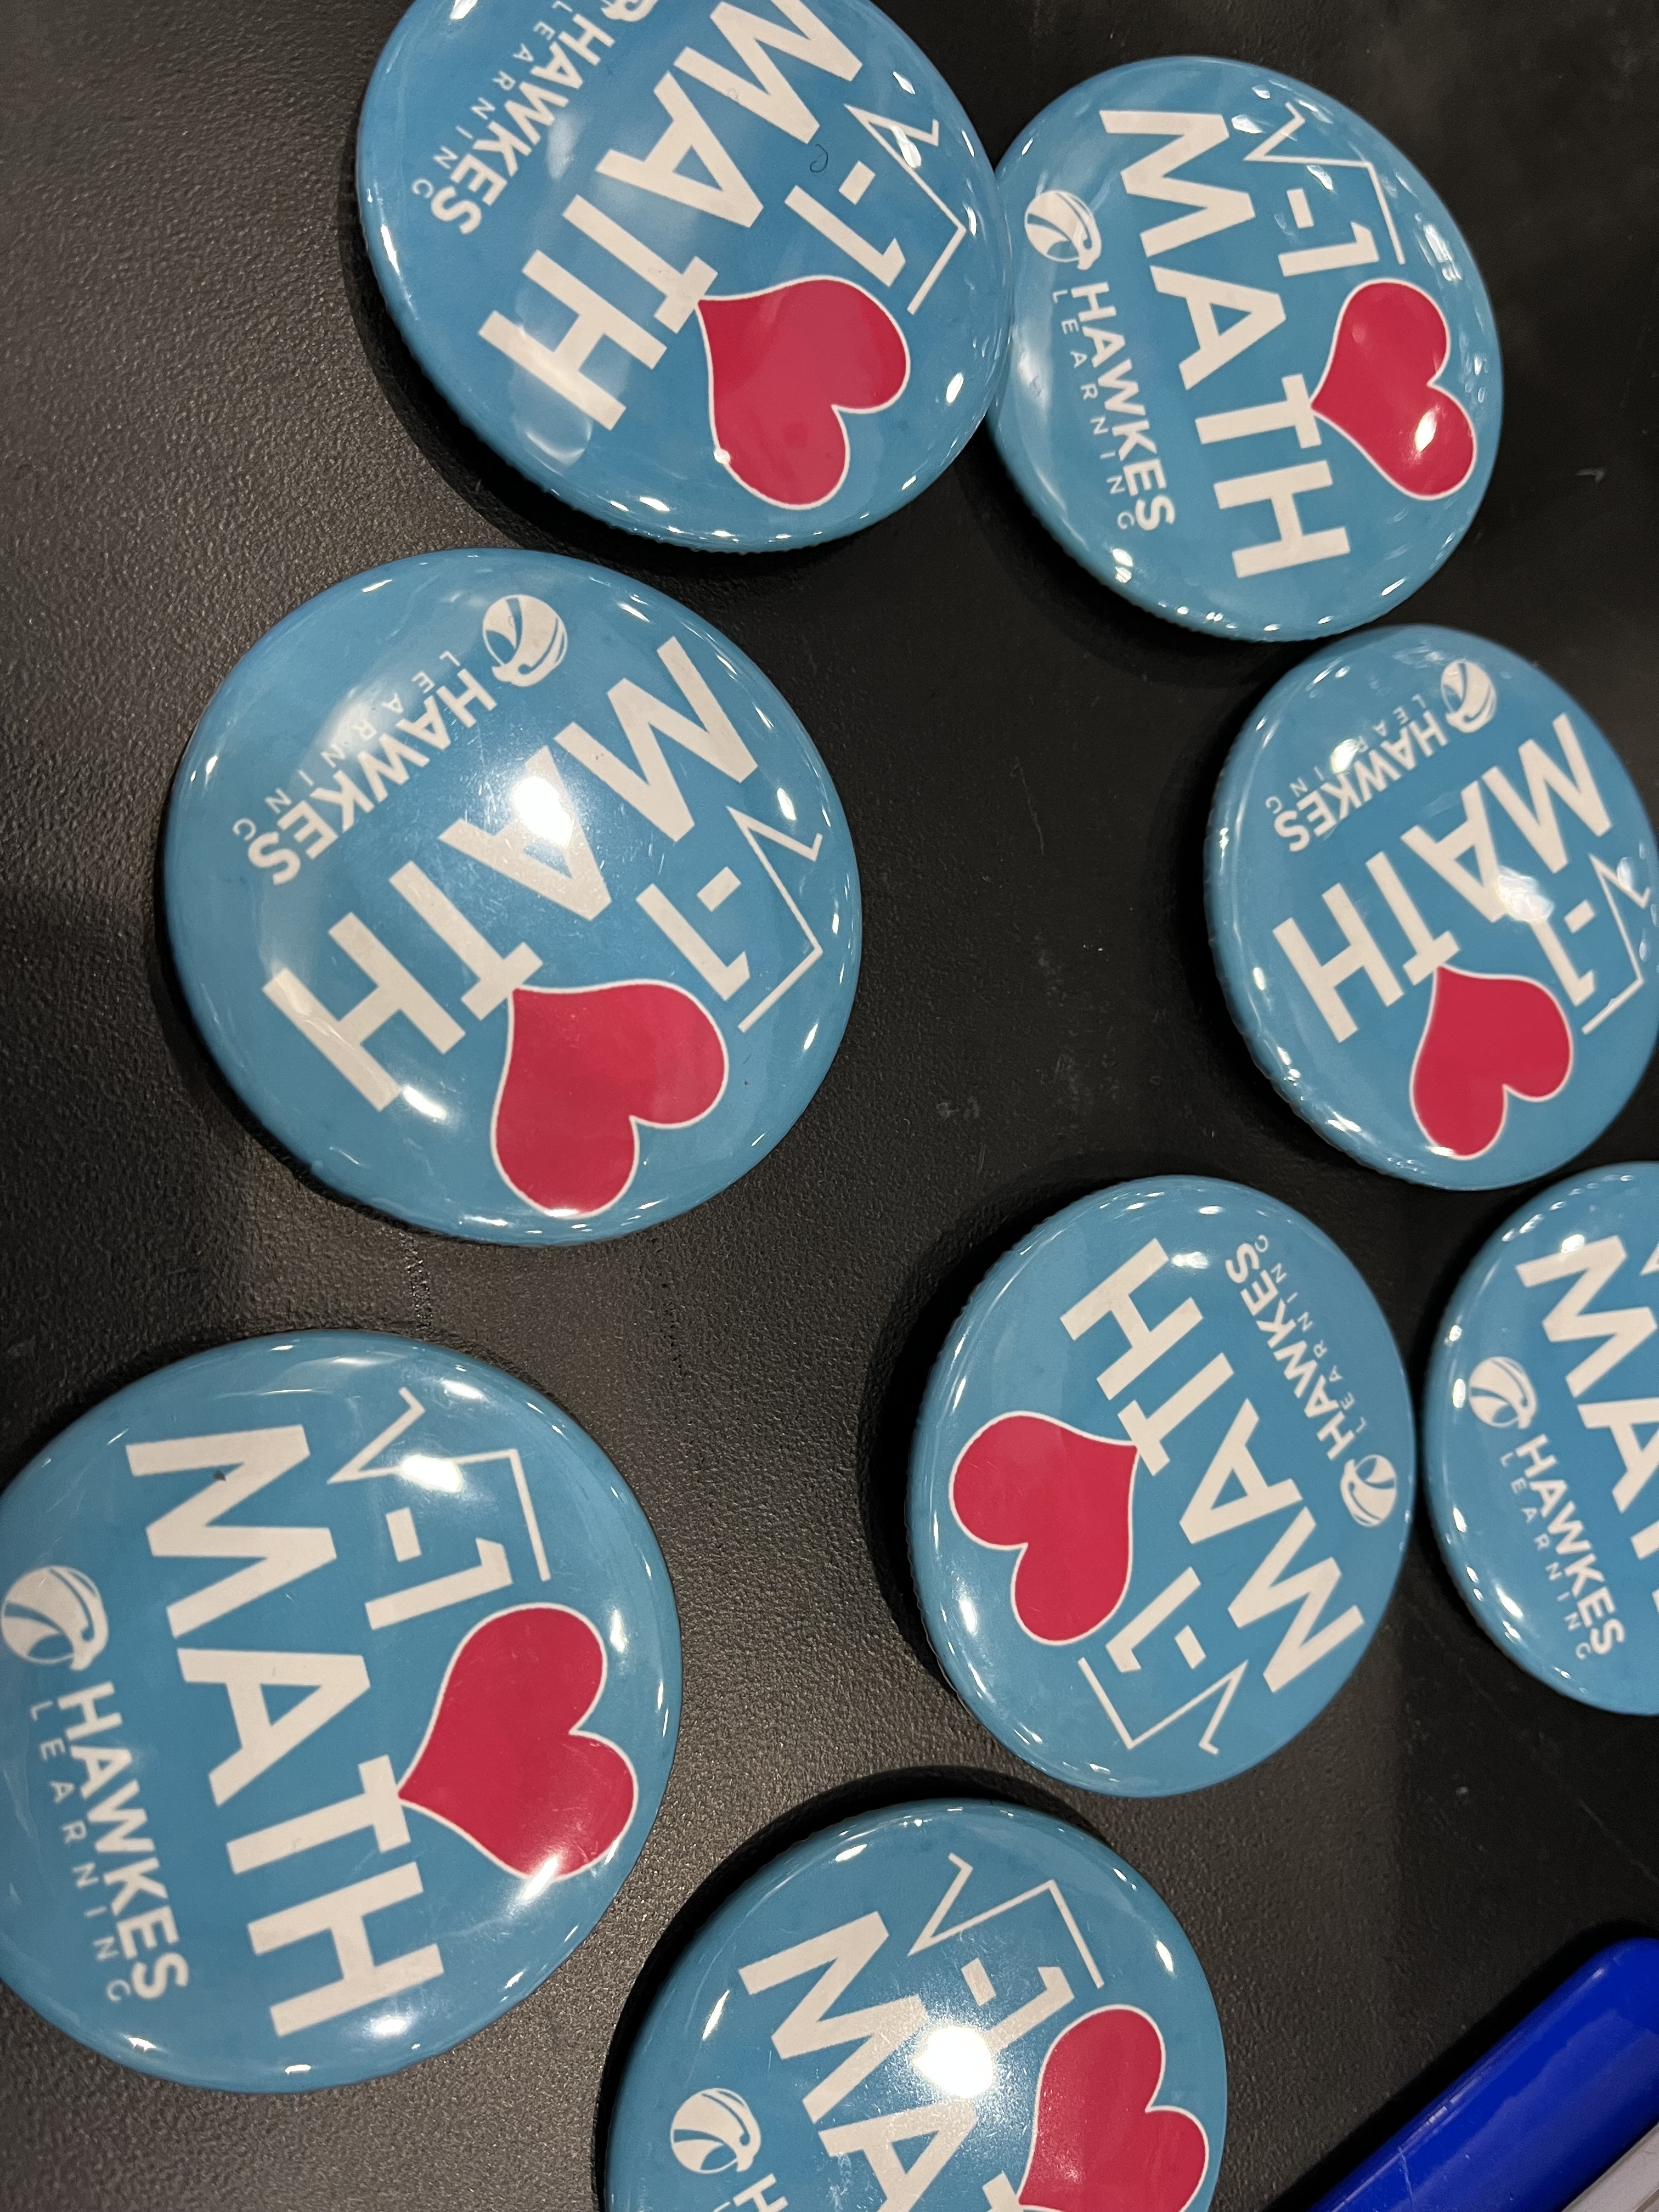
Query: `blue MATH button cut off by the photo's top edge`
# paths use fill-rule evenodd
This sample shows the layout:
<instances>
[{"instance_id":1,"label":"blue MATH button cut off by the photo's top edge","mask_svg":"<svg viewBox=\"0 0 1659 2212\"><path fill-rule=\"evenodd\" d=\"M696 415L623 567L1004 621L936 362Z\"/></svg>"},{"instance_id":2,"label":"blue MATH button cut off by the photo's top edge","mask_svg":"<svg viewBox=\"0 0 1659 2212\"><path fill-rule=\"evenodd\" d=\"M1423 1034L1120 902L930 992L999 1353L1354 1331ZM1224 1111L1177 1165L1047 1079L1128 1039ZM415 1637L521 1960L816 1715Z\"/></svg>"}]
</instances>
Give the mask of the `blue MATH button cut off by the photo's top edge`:
<instances>
[{"instance_id":1,"label":"blue MATH button cut off by the photo's top edge","mask_svg":"<svg viewBox=\"0 0 1659 2212\"><path fill-rule=\"evenodd\" d=\"M646 538L748 553L863 529L951 465L1002 367L991 164L867 0L416 0L356 179L445 398Z\"/></svg>"}]
</instances>

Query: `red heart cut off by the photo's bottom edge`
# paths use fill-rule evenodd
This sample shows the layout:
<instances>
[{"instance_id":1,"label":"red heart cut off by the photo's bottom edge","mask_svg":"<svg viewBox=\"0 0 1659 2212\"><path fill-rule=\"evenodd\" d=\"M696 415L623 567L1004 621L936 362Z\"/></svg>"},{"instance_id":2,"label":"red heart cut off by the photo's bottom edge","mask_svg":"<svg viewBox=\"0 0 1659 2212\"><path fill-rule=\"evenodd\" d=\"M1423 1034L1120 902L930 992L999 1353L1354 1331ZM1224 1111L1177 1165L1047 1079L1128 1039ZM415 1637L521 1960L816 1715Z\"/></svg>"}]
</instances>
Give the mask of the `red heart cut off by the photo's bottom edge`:
<instances>
[{"instance_id":1,"label":"red heart cut off by the photo's bottom edge","mask_svg":"<svg viewBox=\"0 0 1659 2212\"><path fill-rule=\"evenodd\" d=\"M1073 2020L1042 2062L1026 2212L1186 2212L1210 2139L1179 2104L1152 2104L1161 2079L1164 2037L1137 2006Z\"/></svg>"}]
</instances>

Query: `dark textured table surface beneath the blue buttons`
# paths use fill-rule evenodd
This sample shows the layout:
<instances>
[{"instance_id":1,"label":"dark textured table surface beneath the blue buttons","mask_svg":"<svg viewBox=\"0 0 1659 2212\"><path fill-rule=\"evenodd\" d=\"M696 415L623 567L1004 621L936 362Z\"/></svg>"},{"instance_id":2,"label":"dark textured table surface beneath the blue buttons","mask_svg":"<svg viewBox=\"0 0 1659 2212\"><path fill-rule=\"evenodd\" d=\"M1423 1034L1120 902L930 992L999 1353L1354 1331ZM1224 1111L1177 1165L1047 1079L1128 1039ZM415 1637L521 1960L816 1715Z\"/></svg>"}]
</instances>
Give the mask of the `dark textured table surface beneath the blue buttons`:
<instances>
[{"instance_id":1,"label":"dark textured table surface beneath the blue buttons","mask_svg":"<svg viewBox=\"0 0 1659 2212\"><path fill-rule=\"evenodd\" d=\"M891 13L993 157L1079 77L1181 51L1305 77L1405 148L1480 259L1506 378L1486 502L1411 613L1540 659L1659 816L1659 7ZM376 303L349 201L396 15L0 11L0 1478L223 1338L476 1352L568 1407L650 1515L686 1637L679 1759L597 1933L394 2079L184 2090L0 1991L0 2199L582 2212L608 2053L684 1929L757 1854L949 1778L1062 1805L1157 1885L1228 2039L1217 2203L1305 2203L1601 1933L1659 1927L1659 1723L1511 1668L1420 1526L1367 1657L1285 1752L1192 1798L1062 1798L925 1655L907 1433L975 1276L1091 1186L1210 1170L1303 1208L1413 1378L1517 1194L1349 1164L1228 1022L1199 841L1290 653L1110 597L984 436L863 538L721 562L582 520L460 429ZM157 947L168 779L232 661L338 577L502 540L626 568L730 630L812 730L863 869L858 1002L805 1119L721 1199L593 1250L449 1243L310 1186L219 1086ZM1655 1150L1659 1073L1590 1159Z\"/></svg>"}]
</instances>

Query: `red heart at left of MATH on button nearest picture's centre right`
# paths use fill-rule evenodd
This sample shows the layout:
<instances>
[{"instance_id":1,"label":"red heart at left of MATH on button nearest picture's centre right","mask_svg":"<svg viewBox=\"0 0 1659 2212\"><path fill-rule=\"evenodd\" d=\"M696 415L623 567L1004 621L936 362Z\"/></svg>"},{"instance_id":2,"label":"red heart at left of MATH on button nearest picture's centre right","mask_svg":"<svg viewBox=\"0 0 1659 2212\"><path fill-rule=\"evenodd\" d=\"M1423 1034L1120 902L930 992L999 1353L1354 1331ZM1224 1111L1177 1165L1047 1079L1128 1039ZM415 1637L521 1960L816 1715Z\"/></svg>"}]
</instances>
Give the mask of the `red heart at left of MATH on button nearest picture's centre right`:
<instances>
[{"instance_id":1,"label":"red heart at left of MATH on button nearest picture's centre right","mask_svg":"<svg viewBox=\"0 0 1659 2212\"><path fill-rule=\"evenodd\" d=\"M1075 1644L1117 1610L1135 1548L1135 1447L1046 1413L1004 1413L951 1469L975 1544L1020 1546L1009 1599L1037 1644Z\"/></svg>"}]
</instances>

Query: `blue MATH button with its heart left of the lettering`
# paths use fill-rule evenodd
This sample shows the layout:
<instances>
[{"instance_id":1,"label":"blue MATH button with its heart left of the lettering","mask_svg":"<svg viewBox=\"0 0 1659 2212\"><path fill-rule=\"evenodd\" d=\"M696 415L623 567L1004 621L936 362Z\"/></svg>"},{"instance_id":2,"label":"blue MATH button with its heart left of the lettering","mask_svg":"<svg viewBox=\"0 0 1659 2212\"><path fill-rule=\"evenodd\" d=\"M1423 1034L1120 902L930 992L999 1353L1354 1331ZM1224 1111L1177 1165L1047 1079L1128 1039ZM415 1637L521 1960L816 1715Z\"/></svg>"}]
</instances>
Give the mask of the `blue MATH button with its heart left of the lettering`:
<instances>
[{"instance_id":1,"label":"blue MATH button with its heart left of the lettering","mask_svg":"<svg viewBox=\"0 0 1659 2212\"><path fill-rule=\"evenodd\" d=\"M975 1290L916 1427L927 1632L993 1736L1084 1790L1252 1767L1371 1641L1413 1425L1376 1298L1287 1206L1119 1183Z\"/></svg>"}]
</instances>

